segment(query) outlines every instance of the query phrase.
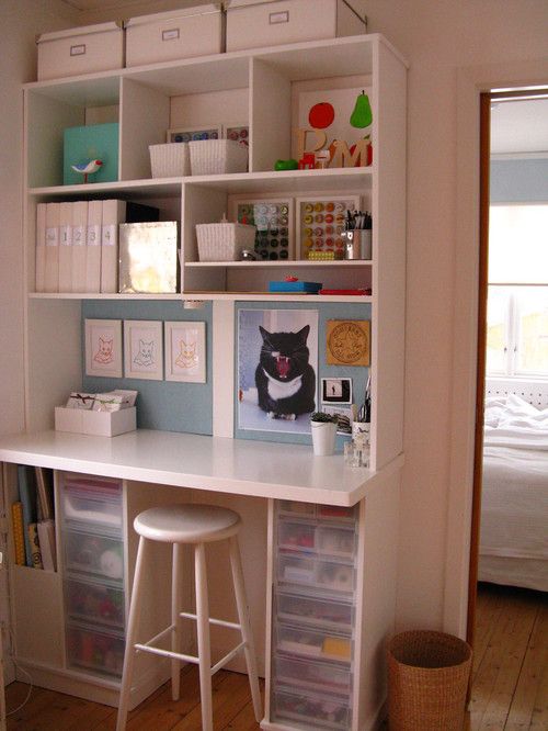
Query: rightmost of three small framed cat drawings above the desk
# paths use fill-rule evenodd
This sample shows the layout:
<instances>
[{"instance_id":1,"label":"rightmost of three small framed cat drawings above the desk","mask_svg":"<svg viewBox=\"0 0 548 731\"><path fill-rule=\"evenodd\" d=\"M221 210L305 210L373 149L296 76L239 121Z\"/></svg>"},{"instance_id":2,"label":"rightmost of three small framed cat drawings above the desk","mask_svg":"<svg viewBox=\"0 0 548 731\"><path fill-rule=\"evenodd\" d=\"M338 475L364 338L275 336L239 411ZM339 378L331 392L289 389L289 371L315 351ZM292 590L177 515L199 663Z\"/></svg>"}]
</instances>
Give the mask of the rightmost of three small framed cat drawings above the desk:
<instances>
[{"instance_id":1,"label":"rightmost of three small framed cat drawings above the desk","mask_svg":"<svg viewBox=\"0 0 548 731\"><path fill-rule=\"evenodd\" d=\"M164 323L165 380L206 382L205 323Z\"/></svg>"}]
</instances>

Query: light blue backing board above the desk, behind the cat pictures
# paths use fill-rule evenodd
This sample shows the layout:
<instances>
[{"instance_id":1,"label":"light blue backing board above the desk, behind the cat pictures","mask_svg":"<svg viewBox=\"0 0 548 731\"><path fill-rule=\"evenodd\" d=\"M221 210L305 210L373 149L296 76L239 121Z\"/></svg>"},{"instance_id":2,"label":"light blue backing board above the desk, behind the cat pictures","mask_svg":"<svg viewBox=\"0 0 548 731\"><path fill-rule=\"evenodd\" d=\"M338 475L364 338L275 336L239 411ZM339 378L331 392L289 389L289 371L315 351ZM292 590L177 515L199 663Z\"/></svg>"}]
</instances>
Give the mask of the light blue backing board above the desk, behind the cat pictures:
<instances>
[{"instance_id":1,"label":"light blue backing board above the desk, behind the cat pictures","mask_svg":"<svg viewBox=\"0 0 548 731\"><path fill-rule=\"evenodd\" d=\"M315 310L318 312L318 381L320 378L351 378L353 381L353 400L361 404L365 394L367 368L340 368L326 363L326 323L328 319L370 319L372 310L368 304L318 303L310 304L284 302L240 302L239 310ZM170 381L148 381L142 379L111 379L85 375L85 319L153 319L153 320L198 320L206 323L207 342L207 382L174 383ZM238 316L235 318L238 342ZM82 303L82 389L90 393L111 391L112 389L136 389L137 426L146 429L165 431L190 431L210 435L213 431L213 389L212 389L212 353L213 342L213 305L206 303L201 310L184 310L179 301L152 300L85 300ZM259 356L259 353L258 353ZM238 378L238 353L227 353L235 359L236 379ZM318 389L319 393L319 389ZM236 401L237 381L235 381L235 436L247 439L272 441L309 442L309 435L287 435L269 431L251 431L237 429L238 404Z\"/></svg>"}]
</instances>

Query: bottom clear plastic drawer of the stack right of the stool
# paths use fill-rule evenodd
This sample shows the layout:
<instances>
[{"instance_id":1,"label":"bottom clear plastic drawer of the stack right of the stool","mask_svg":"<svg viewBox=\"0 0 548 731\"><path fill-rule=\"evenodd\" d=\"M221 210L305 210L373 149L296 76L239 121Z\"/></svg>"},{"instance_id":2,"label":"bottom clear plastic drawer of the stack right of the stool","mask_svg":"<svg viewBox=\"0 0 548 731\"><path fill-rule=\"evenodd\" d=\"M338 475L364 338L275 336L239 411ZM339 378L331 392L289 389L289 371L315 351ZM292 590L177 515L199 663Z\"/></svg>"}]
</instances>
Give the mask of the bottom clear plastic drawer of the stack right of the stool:
<instances>
[{"instance_id":1,"label":"bottom clear plastic drawer of the stack right of the stool","mask_svg":"<svg viewBox=\"0 0 548 731\"><path fill-rule=\"evenodd\" d=\"M297 728L350 729L351 709L346 700L312 693L279 689L274 693L274 720L295 721Z\"/></svg>"}]
</instances>

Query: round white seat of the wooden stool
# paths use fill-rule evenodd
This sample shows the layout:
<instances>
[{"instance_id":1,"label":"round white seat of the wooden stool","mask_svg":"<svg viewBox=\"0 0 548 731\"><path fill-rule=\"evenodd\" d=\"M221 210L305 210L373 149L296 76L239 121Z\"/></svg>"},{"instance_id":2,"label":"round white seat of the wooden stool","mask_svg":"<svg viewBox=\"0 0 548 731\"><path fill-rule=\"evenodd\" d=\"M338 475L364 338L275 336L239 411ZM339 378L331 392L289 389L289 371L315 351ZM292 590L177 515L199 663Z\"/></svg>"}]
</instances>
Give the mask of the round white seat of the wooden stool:
<instances>
[{"instance_id":1,"label":"round white seat of the wooden stool","mask_svg":"<svg viewBox=\"0 0 548 731\"><path fill-rule=\"evenodd\" d=\"M167 543L209 543L235 536L238 513L218 505L165 505L140 513L134 520L139 536Z\"/></svg>"}]
</instances>

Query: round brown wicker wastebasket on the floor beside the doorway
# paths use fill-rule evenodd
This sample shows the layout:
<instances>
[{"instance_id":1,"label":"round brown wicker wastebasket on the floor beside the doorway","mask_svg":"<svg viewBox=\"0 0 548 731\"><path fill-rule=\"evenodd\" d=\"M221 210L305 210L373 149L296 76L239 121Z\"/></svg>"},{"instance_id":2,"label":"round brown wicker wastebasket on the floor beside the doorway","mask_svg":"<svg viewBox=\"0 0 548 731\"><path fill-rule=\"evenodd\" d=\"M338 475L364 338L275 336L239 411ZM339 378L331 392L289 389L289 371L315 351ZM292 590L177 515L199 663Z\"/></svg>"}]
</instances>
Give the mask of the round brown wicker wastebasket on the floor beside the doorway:
<instances>
[{"instance_id":1,"label":"round brown wicker wastebasket on the floor beside the doorway","mask_svg":"<svg viewBox=\"0 0 548 731\"><path fill-rule=\"evenodd\" d=\"M388 648L390 731L463 731L471 656L453 634L397 634Z\"/></svg>"}]
</instances>

